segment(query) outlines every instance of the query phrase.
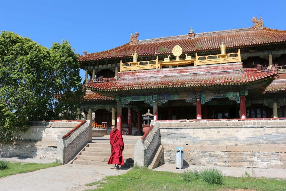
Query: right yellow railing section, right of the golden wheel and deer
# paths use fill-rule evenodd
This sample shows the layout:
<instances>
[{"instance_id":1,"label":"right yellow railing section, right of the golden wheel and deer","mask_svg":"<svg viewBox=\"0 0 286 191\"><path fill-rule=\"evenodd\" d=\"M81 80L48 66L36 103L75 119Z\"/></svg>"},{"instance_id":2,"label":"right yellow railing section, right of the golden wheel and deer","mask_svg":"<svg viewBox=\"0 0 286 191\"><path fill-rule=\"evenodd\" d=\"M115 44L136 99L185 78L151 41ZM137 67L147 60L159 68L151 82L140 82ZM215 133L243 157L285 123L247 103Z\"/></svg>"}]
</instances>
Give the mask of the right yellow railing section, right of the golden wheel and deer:
<instances>
[{"instance_id":1,"label":"right yellow railing section, right of the golden wheel and deer","mask_svg":"<svg viewBox=\"0 0 286 191\"><path fill-rule=\"evenodd\" d=\"M238 52L229 53L229 54L216 54L208 56L197 56L194 66L206 65L206 64L223 64L223 63L232 63L232 62L241 62L240 49Z\"/></svg>"}]
</instances>

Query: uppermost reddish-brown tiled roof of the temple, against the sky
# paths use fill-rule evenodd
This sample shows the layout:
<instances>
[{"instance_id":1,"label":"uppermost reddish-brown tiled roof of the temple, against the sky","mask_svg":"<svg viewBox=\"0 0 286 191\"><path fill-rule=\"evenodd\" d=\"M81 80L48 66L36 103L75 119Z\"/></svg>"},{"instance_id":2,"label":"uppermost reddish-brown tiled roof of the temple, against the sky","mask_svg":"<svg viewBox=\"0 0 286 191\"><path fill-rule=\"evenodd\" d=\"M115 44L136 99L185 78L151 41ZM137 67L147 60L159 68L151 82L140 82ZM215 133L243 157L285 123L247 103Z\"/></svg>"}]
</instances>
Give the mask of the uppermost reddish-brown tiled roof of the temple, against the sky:
<instances>
[{"instance_id":1,"label":"uppermost reddish-brown tiled roof of the temple, against the sky","mask_svg":"<svg viewBox=\"0 0 286 191\"><path fill-rule=\"evenodd\" d=\"M263 27L260 30L252 28L233 29L225 31L214 31L195 34L194 38L188 35L171 36L149 40L139 40L138 44L124 44L122 46L79 56L79 62L92 60L104 60L107 58L132 57L136 51L138 56L171 54L174 46L179 45L186 52L200 52L204 50L219 49L221 42L227 48L253 46L258 44L270 44L275 42L285 42L286 31L269 29Z\"/></svg>"}]
</instances>

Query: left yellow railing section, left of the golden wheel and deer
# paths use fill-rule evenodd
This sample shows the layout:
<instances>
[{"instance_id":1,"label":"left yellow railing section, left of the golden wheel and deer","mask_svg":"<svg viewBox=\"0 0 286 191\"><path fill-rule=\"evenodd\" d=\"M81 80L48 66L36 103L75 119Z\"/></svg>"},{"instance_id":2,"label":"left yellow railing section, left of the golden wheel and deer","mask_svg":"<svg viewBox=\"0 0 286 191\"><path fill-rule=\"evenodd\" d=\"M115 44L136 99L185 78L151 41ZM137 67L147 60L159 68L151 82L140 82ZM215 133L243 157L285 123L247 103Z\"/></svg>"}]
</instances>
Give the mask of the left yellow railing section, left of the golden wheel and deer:
<instances>
[{"instance_id":1,"label":"left yellow railing section, left of the golden wheel and deer","mask_svg":"<svg viewBox=\"0 0 286 191\"><path fill-rule=\"evenodd\" d=\"M156 60L141 61L141 62L122 62L120 60L120 72L130 70L148 70L158 69L158 56Z\"/></svg>"}]
</instances>

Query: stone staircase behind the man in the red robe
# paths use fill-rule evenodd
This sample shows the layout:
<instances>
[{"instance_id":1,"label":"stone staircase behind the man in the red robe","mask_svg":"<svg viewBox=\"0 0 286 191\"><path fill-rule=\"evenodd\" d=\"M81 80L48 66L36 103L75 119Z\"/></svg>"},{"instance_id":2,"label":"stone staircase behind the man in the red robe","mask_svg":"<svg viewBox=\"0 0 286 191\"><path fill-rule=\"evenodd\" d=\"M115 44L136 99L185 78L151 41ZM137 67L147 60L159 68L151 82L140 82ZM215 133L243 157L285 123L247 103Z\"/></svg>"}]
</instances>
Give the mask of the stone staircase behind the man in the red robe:
<instances>
[{"instance_id":1,"label":"stone staircase behind the man in the red robe","mask_svg":"<svg viewBox=\"0 0 286 191\"><path fill-rule=\"evenodd\" d=\"M123 167L131 167L134 164L134 145L124 144ZM74 164L108 166L107 162L111 154L110 143L88 143L82 152L73 161Z\"/></svg>"}]
</instances>

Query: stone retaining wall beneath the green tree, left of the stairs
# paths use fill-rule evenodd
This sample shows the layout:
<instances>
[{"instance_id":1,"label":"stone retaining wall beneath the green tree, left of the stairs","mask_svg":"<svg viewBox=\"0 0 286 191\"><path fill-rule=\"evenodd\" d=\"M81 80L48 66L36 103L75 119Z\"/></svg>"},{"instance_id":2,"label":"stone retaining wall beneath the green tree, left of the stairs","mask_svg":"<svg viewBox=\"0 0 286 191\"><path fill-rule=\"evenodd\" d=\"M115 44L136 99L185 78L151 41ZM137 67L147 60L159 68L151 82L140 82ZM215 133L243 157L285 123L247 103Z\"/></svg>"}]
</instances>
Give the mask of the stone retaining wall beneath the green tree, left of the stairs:
<instances>
[{"instance_id":1,"label":"stone retaining wall beneath the green tree, left of the stairs","mask_svg":"<svg viewBox=\"0 0 286 191\"><path fill-rule=\"evenodd\" d=\"M31 122L25 132L15 133L13 141L0 143L0 156L58 159L57 145L62 136L81 121Z\"/></svg>"}]
</instances>

